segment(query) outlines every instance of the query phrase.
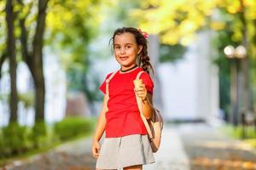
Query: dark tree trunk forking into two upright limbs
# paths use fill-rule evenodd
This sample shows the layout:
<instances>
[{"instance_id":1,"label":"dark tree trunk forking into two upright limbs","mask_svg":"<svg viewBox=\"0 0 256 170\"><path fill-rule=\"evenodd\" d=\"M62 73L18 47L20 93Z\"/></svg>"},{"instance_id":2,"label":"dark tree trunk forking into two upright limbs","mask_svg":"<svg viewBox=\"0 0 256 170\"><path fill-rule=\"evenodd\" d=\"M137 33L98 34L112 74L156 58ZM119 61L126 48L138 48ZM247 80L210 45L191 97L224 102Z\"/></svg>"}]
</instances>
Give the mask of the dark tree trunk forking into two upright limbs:
<instances>
[{"instance_id":1,"label":"dark tree trunk forking into two upright limbs","mask_svg":"<svg viewBox=\"0 0 256 170\"><path fill-rule=\"evenodd\" d=\"M44 47L44 28L46 18L46 8L49 0L38 0L38 18L35 36L32 42L32 52L28 51L27 31L25 26L25 18L20 19L20 42L21 51L26 65L32 73L32 78L35 84L35 112L36 122L44 122L44 64L43 64L43 47ZM20 5L23 5L21 0L18 0Z\"/></svg>"}]
</instances>

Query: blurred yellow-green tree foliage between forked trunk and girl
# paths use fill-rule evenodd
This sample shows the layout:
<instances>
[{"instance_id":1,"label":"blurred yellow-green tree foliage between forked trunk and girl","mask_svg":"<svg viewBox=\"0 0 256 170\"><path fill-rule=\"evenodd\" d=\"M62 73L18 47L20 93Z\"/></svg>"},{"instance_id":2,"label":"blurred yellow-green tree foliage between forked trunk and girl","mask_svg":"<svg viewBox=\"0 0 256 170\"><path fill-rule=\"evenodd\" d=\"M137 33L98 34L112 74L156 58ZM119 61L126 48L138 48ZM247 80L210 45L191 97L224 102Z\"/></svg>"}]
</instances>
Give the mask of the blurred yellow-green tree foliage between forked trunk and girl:
<instances>
[{"instance_id":1,"label":"blurred yellow-green tree foliage between forked trunk and girl","mask_svg":"<svg viewBox=\"0 0 256 170\"><path fill-rule=\"evenodd\" d=\"M86 3L83 0L55 0L49 3L47 44L67 71L68 89L82 91L89 99L92 95L86 86L90 67L88 47L99 33L104 17L102 8L111 5L108 1L95 0Z\"/></svg>"}]
</instances>

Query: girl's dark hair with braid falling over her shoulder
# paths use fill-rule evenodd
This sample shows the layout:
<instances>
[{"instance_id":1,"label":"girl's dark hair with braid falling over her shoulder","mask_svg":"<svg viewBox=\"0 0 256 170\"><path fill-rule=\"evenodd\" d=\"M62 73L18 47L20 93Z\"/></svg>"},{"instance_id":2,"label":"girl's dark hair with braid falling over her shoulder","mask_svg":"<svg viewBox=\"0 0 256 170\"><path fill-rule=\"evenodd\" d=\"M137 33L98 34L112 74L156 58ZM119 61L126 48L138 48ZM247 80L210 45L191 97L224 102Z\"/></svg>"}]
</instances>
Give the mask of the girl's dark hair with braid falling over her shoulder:
<instances>
[{"instance_id":1,"label":"girl's dark hair with braid falling over her shoulder","mask_svg":"<svg viewBox=\"0 0 256 170\"><path fill-rule=\"evenodd\" d=\"M116 29L113 32L113 37L109 40L109 42L111 42L111 40L112 40L112 42L114 44L114 37L116 35L120 35L120 34L123 34L125 32L130 32L131 34L133 34L135 39L136 39L137 45L142 45L143 46L143 49L142 49L141 53L138 54L138 56L137 56L137 65L139 67L142 67L143 71L147 71L149 73L149 71L152 70L153 73L154 73L153 67L152 67L152 65L150 64L150 61L149 61L150 59L149 59L149 56L148 56L147 39L136 28L123 27L123 28Z\"/></svg>"}]
</instances>

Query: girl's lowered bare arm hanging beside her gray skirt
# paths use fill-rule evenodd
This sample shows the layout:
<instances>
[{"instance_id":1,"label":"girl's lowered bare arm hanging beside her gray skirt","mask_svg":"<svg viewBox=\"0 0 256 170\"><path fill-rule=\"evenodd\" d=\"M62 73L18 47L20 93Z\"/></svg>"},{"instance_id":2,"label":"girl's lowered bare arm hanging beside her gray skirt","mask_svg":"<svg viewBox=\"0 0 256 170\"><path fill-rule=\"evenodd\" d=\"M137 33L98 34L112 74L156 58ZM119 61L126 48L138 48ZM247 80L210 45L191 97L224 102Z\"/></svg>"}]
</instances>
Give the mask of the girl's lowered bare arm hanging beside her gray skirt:
<instances>
[{"instance_id":1,"label":"girl's lowered bare arm hanging beside her gray skirt","mask_svg":"<svg viewBox=\"0 0 256 170\"><path fill-rule=\"evenodd\" d=\"M104 133L105 127L106 127L107 121L106 121L105 114L106 114L106 111L108 111L107 103L108 103L108 97L105 95L104 99L103 99L102 111L101 111L98 121L97 121L96 132L93 137L92 148L91 148L92 156L94 156L96 158L100 154L101 145L100 145L99 141L102 138L102 134Z\"/></svg>"}]
</instances>

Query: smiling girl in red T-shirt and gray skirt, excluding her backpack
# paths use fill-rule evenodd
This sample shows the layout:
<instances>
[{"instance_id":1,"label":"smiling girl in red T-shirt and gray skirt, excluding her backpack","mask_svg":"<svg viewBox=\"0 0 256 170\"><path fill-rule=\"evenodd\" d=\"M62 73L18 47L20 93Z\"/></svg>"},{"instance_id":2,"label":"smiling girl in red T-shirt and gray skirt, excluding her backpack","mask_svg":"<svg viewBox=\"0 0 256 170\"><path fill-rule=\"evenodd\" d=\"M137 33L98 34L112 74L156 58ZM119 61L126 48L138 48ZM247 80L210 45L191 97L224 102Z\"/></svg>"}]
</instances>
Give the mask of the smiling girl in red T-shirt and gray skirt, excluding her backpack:
<instances>
[{"instance_id":1,"label":"smiling girl in red T-shirt and gray skirt, excluding her backpack","mask_svg":"<svg viewBox=\"0 0 256 170\"><path fill-rule=\"evenodd\" d=\"M150 104L154 82L148 74L152 66L149 62L146 37L148 35L141 30L123 27L114 31L111 38L114 56L120 69L109 82L109 98L106 94L106 82L100 87L105 96L92 144L92 155L97 158L98 170L140 170L143 165L154 162L136 99L137 95L142 100L143 115L149 119L153 111ZM140 71L145 71L140 77L143 84L135 88L133 80ZM106 79L110 75L112 74L108 74ZM104 131L106 137L101 147L99 141Z\"/></svg>"}]
</instances>

